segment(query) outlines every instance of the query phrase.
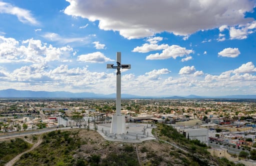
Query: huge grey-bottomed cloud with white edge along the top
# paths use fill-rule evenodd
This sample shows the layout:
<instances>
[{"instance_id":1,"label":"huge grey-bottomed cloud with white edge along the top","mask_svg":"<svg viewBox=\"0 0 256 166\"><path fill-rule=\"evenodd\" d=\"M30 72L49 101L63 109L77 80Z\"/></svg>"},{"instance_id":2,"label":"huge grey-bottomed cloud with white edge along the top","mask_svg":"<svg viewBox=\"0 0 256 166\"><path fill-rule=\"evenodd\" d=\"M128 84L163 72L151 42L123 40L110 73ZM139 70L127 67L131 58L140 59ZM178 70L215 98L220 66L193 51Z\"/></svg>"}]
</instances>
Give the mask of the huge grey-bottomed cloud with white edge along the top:
<instances>
[{"instance_id":1,"label":"huge grey-bottomed cloud with white edge along the top","mask_svg":"<svg viewBox=\"0 0 256 166\"><path fill-rule=\"evenodd\" d=\"M64 13L90 21L98 20L100 29L119 31L128 39L152 36L162 31L188 36L202 29L244 24L253 20L244 15L252 12L254 6L252 0L67 1L70 4Z\"/></svg>"}]
</instances>

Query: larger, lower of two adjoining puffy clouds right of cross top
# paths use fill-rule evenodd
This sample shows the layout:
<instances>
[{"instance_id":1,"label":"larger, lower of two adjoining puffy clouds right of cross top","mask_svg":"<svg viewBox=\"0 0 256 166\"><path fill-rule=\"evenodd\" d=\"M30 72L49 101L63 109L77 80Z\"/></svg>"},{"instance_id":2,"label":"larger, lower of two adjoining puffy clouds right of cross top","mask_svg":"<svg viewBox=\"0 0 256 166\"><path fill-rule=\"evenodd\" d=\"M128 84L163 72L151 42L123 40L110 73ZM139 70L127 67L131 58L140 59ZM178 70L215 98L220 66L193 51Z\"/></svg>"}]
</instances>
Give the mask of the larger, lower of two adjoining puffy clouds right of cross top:
<instances>
[{"instance_id":1,"label":"larger, lower of two adjoining puffy clouds right of cross top","mask_svg":"<svg viewBox=\"0 0 256 166\"><path fill-rule=\"evenodd\" d=\"M153 60L153 59L167 59L167 58L173 58L176 59L176 57L183 57L186 55L189 55L192 53L193 50L186 49L185 47L180 47L179 45L171 45L165 48L162 53L155 53L150 54L146 56L146 59Z\"/></svg>"}]
</instances>

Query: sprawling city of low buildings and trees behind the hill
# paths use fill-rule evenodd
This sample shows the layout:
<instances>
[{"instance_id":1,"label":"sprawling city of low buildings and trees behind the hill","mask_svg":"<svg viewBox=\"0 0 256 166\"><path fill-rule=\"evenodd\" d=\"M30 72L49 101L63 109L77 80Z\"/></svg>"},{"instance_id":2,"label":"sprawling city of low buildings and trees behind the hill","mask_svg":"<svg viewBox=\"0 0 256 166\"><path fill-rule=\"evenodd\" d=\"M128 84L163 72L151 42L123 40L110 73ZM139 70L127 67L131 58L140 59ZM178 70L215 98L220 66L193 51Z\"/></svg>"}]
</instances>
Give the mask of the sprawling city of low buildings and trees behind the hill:
<instances>
[{"instance_id":1,"label":"sprawling city of low buildings and trees behind the hill","mask_svg":"<svg viewBox=\"0 0 256 166\"><path fill-rule=\"evenodd\" d=\"M114 112L115 99L2 98L0 135L43 128L86 128L88 123L110 123ZM256 147L255 100L122 99L121 113L127 123L167 123L188 139L213 148L225 146L233 154Z\"/></svg>"}]
</instances>

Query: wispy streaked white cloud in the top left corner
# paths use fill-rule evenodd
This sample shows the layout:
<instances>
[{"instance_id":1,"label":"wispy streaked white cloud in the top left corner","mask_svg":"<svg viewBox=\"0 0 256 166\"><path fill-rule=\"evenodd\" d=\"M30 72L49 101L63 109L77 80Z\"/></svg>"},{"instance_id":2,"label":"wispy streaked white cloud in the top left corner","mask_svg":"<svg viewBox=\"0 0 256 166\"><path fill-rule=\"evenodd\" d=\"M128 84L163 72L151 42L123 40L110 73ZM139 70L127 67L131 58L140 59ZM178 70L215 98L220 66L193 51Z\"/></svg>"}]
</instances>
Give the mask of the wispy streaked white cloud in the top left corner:
<instances>
[{"instance_id":1,"label":"wispy streaked white cloud in the top left corner","mask_svg":"<svg viewBox=\"0 0 256 166\"><path fill-rule=\"evenodd\" d=\"M39 24L39 22L32 16L29 10L13 6L10 3L3 1L0 1L0 13L16 15L18 20L22 23L30 23L33 25Z\"/></svg>"}]
</instances>

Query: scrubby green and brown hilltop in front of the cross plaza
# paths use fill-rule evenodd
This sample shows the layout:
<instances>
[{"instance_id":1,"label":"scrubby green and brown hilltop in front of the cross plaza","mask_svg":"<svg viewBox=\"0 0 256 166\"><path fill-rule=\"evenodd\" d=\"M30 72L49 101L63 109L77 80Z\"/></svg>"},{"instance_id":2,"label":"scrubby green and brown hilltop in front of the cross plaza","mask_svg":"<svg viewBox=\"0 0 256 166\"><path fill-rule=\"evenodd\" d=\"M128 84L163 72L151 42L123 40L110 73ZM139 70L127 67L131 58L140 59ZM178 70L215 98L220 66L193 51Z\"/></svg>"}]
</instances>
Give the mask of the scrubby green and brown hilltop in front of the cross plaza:
<instances>
[{"instance_id":1,"label":"scrubby green and brown hilltop in front of the cross plaza","mask_svg":"<svg viewBox=\"0 0 256 166\"><path fill-rule=\"evenodd\" d=\"M186 139L171 126L158 124L153 133L159 140L123 143L107 141L86 129L51 131L42 134L42 143L24 153L15 165L225 165L229 162L211 156L205 144ZM165 141L179 144L179 148Z\"/></svg>"}]
</instances>

